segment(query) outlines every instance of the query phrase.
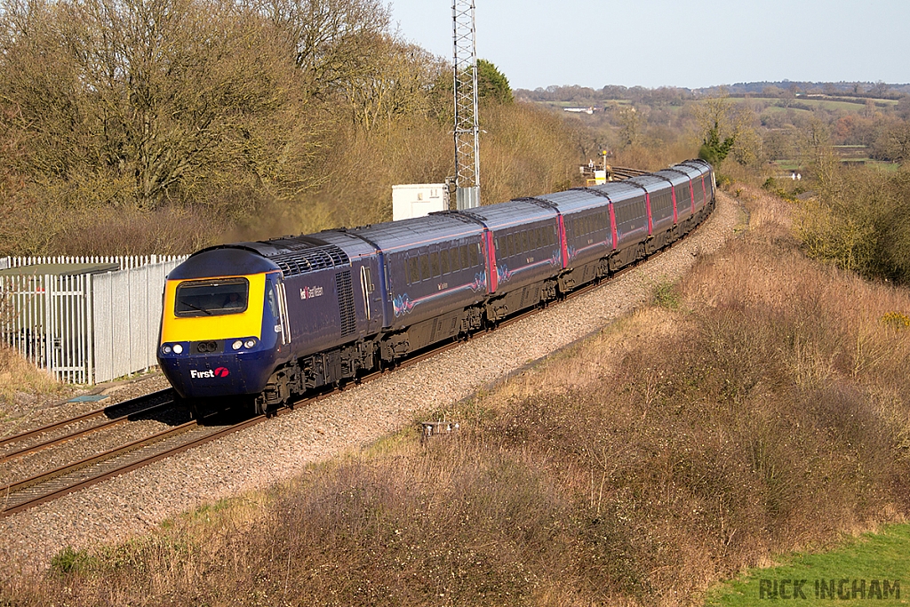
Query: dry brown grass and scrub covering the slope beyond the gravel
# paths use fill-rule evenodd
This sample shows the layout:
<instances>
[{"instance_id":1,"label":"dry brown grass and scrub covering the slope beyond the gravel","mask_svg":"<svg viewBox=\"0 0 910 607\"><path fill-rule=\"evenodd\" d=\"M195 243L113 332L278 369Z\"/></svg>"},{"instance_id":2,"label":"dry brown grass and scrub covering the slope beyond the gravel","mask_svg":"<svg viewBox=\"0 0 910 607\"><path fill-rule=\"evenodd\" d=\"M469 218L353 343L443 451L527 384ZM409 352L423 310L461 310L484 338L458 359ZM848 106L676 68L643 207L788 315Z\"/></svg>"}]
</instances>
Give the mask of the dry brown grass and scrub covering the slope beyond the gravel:
<instances>
[{"instance_id":1,"label":"dry brown grass and scrub covering the slope beyond the gravel","mask_svg":"<svg viewBox=\"0 0 910 607\"><path fill-rule=\"evenodd\" d=\"M642 309L416 432L19 580L14 604L688 605L910 510L905 290L785 203Z\"/></svg>"}]
</instances>

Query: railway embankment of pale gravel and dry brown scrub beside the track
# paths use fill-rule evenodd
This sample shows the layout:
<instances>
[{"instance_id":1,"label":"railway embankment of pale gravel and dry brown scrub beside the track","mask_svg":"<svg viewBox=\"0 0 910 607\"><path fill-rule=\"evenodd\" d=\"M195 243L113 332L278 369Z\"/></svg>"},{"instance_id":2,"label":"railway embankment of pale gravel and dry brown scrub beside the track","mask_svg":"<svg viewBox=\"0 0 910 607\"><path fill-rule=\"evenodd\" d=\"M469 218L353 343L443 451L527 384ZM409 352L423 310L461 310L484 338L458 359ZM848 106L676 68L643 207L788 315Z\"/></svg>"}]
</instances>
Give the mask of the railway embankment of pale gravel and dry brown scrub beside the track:
<instances>
[{"instance_id":1,"label":"railway embankment of pale gravel and dry brown scrub beside the track","mask_svg":"<svg viewBox=\"0 0 910 607\"><path fill-rule=\"evenodd\" d=\"M581 298L5 518L2 592L689 604L773 553L900 520L910 297L804 258L786 203L740 194L746 228L722 195L692 237ZM460 430L421 441L442 415Z\"/></svg>"}]
</instances>

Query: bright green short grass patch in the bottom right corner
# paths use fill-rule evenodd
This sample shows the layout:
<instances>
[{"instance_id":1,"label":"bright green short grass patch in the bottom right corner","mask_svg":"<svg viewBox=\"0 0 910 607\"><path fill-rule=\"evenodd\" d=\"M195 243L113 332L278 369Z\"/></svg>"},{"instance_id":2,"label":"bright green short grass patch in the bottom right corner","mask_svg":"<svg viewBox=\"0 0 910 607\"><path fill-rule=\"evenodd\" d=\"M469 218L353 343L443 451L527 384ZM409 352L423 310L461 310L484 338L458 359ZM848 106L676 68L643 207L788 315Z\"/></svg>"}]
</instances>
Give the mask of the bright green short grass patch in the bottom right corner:
<instances>
[{"instance_id":1,"label":"bright green short grass patch in the bottom right corner","mask_svg":"<svg viewBox=\"0 0 910 607\"><path fill-rule=\"evenodd\" d=\"M905 605L910 602L910 525L895 525L881 533L867 533L832 551L794 554L781 561L783 564L776 567L753 569L739 579L715 586L708 593L705 604L712 607L747 607L793 599L794 580L797 583L805 581L802 593L797 592L795 597L800 605L826 605L832 602L844 606ZM848 582L842 584L844 580ZM884 592L885 580L891 587L887 599ZM787 596L775 599L775 582L780 590L782 581L787 581L784 585ZM816 598L816 582L821 595L822 581L827 585L834 581L834 598ZM895 581L900 584L899 592L895 591ZM864 590L864 598L860 598L860 592L853 598L854 582L857 591ZM875 593L876 585L882 591L881 598ZM839 587L842 594L838 594ZM844 593L849 596L844 598Z\"/></svg>"}]
</instances>

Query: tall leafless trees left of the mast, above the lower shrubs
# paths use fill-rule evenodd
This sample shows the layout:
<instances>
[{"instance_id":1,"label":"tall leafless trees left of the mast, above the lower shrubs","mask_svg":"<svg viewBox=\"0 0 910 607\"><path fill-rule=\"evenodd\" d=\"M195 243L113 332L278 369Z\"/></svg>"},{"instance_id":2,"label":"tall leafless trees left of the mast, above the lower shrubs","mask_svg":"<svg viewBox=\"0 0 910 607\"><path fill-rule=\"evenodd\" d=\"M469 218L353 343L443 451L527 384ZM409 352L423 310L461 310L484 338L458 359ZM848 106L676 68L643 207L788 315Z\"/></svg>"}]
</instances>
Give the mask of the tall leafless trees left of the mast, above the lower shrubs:
<instances>
[{"instance_id":1,"label":"tall leafless trees left of the mast, above the lower shrubs","mask_svg":"<svg viewBox=\"0 0 910 607\"><path fill-rule=\"evenodd\" d=\"M2 15L7 179L74 204L293 196L327 112L409 112L437 76L376 0L4 0Z\"/></svg>"}]
</instances>

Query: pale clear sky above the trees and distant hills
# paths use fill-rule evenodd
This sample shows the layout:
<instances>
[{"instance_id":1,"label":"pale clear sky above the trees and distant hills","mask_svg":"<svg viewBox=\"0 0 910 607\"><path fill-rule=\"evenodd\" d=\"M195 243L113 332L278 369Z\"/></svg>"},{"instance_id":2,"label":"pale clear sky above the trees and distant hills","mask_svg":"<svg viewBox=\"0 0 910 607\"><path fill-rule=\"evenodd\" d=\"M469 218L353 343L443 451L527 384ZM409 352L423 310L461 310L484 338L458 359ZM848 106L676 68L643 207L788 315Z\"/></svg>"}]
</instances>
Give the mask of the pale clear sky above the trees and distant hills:
<instances>
[{"instance_id":1,"label":"pale clear sky above the trees and distant hills","mask_svg":"<svg viewBox=\"0 0 910 607\"><path fill-rule=\"evenodd\" d=\"M386 0L451 59L451 0ZM477 54L512 88L910 83L910 0L475 0Z\"/></svg>"}]
</instances>

